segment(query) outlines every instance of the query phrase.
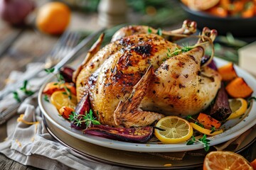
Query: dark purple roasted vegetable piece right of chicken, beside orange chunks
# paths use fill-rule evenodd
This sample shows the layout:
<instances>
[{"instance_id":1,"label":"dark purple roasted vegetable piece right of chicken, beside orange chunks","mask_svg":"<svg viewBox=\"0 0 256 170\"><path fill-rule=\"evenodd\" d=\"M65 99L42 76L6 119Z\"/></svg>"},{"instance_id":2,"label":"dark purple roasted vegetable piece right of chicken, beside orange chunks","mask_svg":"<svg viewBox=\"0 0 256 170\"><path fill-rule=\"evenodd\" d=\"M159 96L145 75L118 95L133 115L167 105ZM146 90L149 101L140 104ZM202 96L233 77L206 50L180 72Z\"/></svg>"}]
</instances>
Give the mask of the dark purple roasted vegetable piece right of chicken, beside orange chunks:
<instances>
[{"instance_id":1,"label":"dark purple roasted vegetable piece right of chicken, beside orange chunks","mask_svg":"<svg viewBox=\"0 0 256 170\"><path fill-rule=\"evenodd\" d=\"M232 113L229 103L228 103L228 94L225 91L225 86L222 83L218 91L215 101L210 108L210 116L223 121Z\"/></svg>"}]
</instances>

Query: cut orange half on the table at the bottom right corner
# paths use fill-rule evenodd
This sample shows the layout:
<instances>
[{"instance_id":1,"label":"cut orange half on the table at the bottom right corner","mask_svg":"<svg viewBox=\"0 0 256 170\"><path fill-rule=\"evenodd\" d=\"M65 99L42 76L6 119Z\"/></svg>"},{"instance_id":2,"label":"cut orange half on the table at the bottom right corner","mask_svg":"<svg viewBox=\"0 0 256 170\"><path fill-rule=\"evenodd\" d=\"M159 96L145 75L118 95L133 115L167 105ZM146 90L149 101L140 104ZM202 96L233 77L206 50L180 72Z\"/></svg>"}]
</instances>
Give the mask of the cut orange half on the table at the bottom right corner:
<instances>
[{"instance_id":1,"label":"cut orange half on the table at the bottom right corner","mask_svg":"<svg viewBox=\"0 0 256 170\"><path fill-rule=\"evenodd\" d=\"M203 170L253 170L250 163L240 154L228 151L214 151L206 155Z\"/></svg>"}]
</instances>

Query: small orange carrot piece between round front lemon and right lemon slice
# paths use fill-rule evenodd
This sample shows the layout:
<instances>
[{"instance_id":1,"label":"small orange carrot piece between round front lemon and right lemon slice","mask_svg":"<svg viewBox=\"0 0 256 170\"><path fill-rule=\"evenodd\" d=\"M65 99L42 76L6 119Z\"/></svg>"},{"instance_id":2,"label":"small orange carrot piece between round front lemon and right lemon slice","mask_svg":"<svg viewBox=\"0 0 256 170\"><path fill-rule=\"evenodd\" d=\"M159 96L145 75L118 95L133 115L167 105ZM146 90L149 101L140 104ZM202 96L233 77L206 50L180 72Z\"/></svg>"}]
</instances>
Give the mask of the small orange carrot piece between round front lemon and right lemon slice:
<instances>
[{"instance_id":1,"label":"small orange carrot piece between round front lemon and right lemon slice","mask_svg":"<svg viewBox=\"0 0 256 170\"><path fill-rule=\"evenodd\" d=\"M206 115L205 113L199 113L198 122L203 125L204 128L210 129L212 127L215 127L216 129L220 128L220 121L215 120L210 115Z\"/></svg>"}]
</instances>

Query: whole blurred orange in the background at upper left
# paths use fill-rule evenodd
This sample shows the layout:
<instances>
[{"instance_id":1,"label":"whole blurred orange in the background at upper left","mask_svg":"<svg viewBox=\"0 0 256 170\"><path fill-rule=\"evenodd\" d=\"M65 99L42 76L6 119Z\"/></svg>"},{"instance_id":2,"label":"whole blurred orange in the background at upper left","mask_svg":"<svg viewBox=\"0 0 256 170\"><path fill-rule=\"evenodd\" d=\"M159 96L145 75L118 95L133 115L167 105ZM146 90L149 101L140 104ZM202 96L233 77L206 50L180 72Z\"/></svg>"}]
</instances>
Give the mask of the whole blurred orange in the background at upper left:
<instances>
[{"instance_id":1,"label":"whole blurred orange in the background at upper left","mask_svg":"<svg viewBox=\"0 0 256 170\"><path fill-rule=\"evenodd\" d=\"M36 16L36 26L43 33L61 34L70 23L70 8L61 2L48 2L41 6Z\"/></svg>"}]
</instances>

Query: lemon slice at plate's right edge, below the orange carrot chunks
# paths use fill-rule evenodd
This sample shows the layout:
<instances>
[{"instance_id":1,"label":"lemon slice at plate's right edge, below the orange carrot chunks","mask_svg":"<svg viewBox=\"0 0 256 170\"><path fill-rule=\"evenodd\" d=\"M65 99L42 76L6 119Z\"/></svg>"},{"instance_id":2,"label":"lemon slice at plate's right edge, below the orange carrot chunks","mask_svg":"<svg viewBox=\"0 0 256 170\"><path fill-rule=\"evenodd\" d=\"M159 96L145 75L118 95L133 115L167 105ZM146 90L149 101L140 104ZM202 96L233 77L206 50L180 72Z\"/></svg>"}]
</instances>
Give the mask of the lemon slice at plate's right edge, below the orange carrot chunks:
<instances>
[{"instance_id":1,"label":"lemon slice at plate's right edge, below the orange carrot chunks","mask_svg":"<svg viewBox=\"0 0 256 170\"><path fill-rule=\"evenodd\" d=\"M228 102L232 113L227 120L238 118L247 110L247 101L245 101L243 98L229 99Z\"/></svg>"}]
</instances>

